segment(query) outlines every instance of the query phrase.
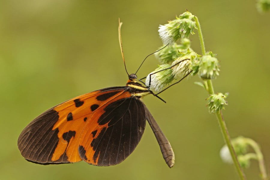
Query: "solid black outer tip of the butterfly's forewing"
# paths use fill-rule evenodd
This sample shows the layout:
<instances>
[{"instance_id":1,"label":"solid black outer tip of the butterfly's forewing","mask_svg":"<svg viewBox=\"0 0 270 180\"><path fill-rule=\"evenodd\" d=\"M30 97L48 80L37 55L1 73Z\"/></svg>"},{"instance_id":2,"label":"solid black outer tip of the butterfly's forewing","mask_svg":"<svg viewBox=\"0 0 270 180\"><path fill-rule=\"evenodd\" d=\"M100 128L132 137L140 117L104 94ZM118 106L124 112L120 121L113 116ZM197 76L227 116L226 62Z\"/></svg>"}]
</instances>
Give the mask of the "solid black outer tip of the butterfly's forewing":
<instances>
[{"instance_id":1,"label":"solid black outer tip of the butterfly's forewing","mask_svg":"<svg viewBox=\"0 0 270 180\"><path fill-rule=\"evenodd\" d=\"M51 161L52 152L59 140L58 129L52 130L58 118L58 113L51 108L35 118L22 131L18 139L18 147L26 160L38 164L69 163L65 155L58 161Z\"/></svg>"}]
</instances>

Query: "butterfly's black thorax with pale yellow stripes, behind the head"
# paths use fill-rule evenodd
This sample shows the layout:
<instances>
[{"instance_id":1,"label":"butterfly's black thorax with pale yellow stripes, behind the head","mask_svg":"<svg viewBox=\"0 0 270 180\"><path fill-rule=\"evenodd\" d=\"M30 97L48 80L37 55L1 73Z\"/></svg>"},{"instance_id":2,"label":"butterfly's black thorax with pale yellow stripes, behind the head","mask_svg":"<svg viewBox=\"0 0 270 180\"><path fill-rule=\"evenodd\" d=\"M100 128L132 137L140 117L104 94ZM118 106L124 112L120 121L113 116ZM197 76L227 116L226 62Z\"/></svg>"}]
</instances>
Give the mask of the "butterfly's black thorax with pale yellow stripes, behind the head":
<instances>
[{"instance_id":1,"label":"butterfly's black thorax with pale yellow stripes, behind the head","mask_svg":"<svg viewBox=\"0 0 270 180\"><path fill-rule=\"evenodd\" d=\"M126 86L128 86L128 91L131 95L137 96L138 98L149 95L151 92L148 88L137 82L136 79L128 79Z\"/></svg>"}]
</instances>

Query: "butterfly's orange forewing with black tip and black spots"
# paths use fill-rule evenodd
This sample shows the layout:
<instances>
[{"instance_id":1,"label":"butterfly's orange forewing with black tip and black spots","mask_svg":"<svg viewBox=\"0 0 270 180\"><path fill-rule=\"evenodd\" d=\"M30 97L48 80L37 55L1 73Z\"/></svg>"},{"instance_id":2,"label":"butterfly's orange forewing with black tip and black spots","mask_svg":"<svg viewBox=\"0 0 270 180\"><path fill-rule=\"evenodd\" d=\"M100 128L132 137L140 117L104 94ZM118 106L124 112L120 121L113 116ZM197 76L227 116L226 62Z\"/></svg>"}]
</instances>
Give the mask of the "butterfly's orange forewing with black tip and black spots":
<instances>
[{"instance_id":1,"label":"butterfly's orange forewing with black tip and black spots","mask_svg":"<svg viewBox=\"0 0 270 180\"><path fill-rule=\"evenodd\" d=\"M18 147L22 156L42 164L81 161L81 135L86 129L106 127L108 123L98 123L104 109L113 102L130 97L126 87L105 88L70 99L47 110L20 134ZM95 135L98 134L99 132L96 132ZM91 141L91 138L89 140Z\"/></svg>"}]
</instances>

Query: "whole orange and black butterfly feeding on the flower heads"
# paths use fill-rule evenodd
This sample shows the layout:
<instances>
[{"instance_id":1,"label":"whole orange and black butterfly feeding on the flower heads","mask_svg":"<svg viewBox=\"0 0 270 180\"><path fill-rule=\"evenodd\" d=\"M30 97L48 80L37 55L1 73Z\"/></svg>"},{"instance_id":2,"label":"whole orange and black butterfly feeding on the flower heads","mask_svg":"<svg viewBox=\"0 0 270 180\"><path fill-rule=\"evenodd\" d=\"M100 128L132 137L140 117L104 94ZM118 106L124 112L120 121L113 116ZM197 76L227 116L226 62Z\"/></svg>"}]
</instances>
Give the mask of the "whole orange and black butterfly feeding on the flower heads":
<instances>
[{"instance_id":1,"label":"whole orange and black butterfly feeding on the flower heads","mask_svg":"<svg viewBox=\"0 0 270 180\"><path fill-rule=\"evenodd\" d=\"M125 62L120 27L121 24L119 42ZM97 166L119 164L134 151L148 121L166 163L173 167L172 147L141 100L155 94L138 83L135 74L128 78L126 86L72 98L35 118L19 136L22 156L38 164L82 160Z\"/></svg>"}]
</instances>

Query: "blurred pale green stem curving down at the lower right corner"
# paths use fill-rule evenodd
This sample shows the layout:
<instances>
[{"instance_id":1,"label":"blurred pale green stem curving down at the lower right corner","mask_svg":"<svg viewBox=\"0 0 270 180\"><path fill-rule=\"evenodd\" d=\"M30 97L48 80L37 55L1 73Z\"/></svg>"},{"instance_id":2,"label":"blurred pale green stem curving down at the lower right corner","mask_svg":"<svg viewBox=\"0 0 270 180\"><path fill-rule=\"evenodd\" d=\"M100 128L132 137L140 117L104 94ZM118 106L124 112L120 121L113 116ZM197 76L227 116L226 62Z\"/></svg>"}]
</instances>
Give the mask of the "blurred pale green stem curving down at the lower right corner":
<instances>
[{"instance_id":1,"label":"blurred pale green stem curving down at the lower right corner","mask_svg":"<svg viewBox=\"0 0 270 180\"><path fill-rule=\"evenodd\" d=\"M247 144L249 144L255 151L256 155L257 155L257 159L259 162L259 169L262 175L262 179L263 180L267 180L267 174L266 174L266 170L265 170L265 164L263 161L263 155L261 152L261 149L259 147L259 145L252 139L250 138L245 138L245 141L247 142Z\"/></svg>"}]
</instances>

